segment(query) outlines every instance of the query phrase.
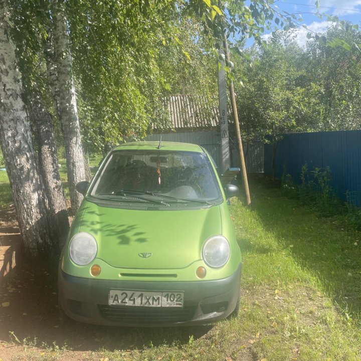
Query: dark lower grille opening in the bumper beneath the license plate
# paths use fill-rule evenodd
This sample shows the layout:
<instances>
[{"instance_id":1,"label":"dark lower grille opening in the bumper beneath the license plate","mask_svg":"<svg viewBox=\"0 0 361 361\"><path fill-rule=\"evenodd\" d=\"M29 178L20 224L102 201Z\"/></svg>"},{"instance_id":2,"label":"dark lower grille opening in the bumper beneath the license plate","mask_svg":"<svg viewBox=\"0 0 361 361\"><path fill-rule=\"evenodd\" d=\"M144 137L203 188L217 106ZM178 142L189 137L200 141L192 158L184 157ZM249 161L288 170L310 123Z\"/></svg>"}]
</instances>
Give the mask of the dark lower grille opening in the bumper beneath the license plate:
<instances>
[{"instance_id":1,"label":"dark lower grille opening in the bumper beneath the license plate","mask_svg":"<svg viewBox=\"0 0 361 361\"><path fill-rule=\"evenodd\" d=\"M193 318L196 307L118 307L98 305L103 318L114 322L175 323Z\"/></svg>"}]
</instances>

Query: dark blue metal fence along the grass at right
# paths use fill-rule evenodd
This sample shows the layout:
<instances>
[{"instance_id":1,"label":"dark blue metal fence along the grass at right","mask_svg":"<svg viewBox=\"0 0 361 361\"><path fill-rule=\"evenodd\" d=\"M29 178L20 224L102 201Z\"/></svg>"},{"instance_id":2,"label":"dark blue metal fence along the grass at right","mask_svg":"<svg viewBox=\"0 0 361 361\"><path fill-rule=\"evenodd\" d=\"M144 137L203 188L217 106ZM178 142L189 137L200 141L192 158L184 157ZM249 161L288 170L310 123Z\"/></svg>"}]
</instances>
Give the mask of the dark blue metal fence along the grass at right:
<instances>
[{"instance_id":1,"label":"dark blue metal fence along the grass at right","mask_svg":"<svg viewBox=\"0 0 361 361\"><path fill-rule=\"evenodd\" d=\"M265 144L265 173L272 174L273 145ZM284 170L300 182L301 167L330 167L331 186L346 200L346 192L361 192L361 130L285 134L278 142L275 175Z\"/></svg>"}]
</instances>

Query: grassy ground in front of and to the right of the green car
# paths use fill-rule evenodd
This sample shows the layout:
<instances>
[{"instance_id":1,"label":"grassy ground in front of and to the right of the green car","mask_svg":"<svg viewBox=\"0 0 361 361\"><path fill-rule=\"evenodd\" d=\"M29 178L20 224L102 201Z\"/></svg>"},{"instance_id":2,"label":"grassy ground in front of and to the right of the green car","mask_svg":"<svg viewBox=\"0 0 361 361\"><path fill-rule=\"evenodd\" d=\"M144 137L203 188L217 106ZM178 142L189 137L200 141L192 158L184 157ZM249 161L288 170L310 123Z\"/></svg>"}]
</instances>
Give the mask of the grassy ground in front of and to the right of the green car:
<instances>
[{"instance_id":1,"label":"grassy ground in front of and to the right of the green car","mask_svg":"<svg viewBox=\"0 0 361 361\"><path fill-rule=\"evenodd\" d=\"M262 178L250 190L252 209L236 199L231 205L243 253L238 317L213 327L103 328L97 350L23 343L18 354L93 361L361 359L360 233L342 217L320 218Z\"/></svg>"}]
</instances>

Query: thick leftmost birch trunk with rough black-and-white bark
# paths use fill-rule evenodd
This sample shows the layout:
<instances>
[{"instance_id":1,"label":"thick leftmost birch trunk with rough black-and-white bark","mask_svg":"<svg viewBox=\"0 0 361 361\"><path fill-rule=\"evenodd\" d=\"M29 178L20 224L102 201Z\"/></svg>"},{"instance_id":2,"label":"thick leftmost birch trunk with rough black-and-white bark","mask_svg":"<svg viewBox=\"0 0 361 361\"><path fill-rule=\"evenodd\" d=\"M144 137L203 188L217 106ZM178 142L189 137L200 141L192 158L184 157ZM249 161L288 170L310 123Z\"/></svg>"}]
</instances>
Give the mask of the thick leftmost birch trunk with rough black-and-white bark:
<instances>
[{"instance_id":1,"label":"thick leftmost birch trunk with rough black-and-white bark","mask_svg":"<svg viewBox=\"0 0 361 361\"><path fill-rule=\"evenodd\" d=\"M10 43L9 14L0 0L0 134L5 164L10 178L14 204L25 255L38 258L57 251L49 234L46 197L39 176L37 157L25 104L15 48Z\"/></svg>"}]
</instances>

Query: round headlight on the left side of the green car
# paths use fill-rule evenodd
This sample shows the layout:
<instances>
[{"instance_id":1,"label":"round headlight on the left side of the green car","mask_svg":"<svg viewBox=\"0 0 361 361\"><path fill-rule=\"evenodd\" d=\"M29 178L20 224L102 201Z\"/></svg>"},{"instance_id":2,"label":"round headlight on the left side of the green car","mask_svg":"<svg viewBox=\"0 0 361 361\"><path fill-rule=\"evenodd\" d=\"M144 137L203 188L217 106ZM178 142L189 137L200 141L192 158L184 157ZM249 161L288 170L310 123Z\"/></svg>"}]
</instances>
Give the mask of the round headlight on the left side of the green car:
<instances>
[{"instance_id":1,"label":"round headlight on the left side of the green car","mask_svg":"<svg viewBox=\"0 0 361 361\"><path fill-rule=\"evenodd\" d=\"M89 264L95 258L97 250L95 238L89 233L79 232L70 241L70 258L79 266Z\"/></svg>"}]
</instances>

